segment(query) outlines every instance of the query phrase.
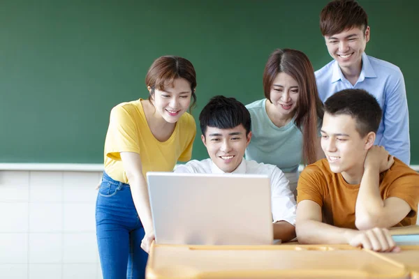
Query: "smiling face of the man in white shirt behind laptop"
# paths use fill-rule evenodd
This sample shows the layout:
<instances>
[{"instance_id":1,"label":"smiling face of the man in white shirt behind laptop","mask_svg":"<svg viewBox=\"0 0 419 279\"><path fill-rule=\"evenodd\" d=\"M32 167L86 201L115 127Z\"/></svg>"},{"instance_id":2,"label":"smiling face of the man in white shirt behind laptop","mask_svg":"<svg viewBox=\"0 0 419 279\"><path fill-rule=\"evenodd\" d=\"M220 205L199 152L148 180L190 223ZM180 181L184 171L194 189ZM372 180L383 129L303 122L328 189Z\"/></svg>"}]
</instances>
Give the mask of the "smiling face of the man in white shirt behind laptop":
<instances>
[{"instance_id":1,"label":"smiling face of the man in white shirt behind laptop","mask_svg":"<svg viewBox=\"0 0 419 279\"><path fill-rule=\"evenodd\" d=\"M212 162L223 172L233 172L242 163L251 132L246 136L246 129L242 124L231 129L207 126L205 136L202 135L201 139Z\"/></svg>"}]
</instances>

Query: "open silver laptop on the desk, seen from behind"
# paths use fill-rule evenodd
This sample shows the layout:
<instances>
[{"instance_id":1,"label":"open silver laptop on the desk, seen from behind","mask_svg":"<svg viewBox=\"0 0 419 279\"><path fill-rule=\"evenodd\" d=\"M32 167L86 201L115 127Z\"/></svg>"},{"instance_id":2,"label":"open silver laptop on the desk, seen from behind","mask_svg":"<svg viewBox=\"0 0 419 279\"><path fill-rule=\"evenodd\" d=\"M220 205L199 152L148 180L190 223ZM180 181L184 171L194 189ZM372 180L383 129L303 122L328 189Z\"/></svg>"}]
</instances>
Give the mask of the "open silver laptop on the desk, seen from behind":
<instances>
[{"instance_id":1,"label":"open silver laptop on the desk, seen from behind","mask_svg":"<svg viewBox=\"0 0 419 279\"><path fill-rule=\"evenodd\" d=\"M268 176L147 172L147 181L156 243L273 243Z\"/></svg>"}]
</instances>

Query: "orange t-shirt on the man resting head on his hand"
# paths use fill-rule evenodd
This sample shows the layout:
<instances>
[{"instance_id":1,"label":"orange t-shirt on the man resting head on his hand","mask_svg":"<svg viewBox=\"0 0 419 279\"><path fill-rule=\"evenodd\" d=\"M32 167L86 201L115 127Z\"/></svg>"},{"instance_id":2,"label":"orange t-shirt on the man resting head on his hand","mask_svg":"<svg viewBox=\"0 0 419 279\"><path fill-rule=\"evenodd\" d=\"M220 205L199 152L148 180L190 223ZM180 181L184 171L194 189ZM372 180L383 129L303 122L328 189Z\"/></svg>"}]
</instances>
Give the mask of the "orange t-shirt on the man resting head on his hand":
<instances>
[{"instance_id":1,"label":"orange t-shirt on the man resting head on his hand","mask_svg":"<svg viewBox=\"0 0 419 279\"><path fill-rule=\"evenodd\" d=\"M346 183L341 174L330 170L327 159L318 160L303 170L298 180L297 202L310 199L321 206L323 223L356 229L355 203L360 184ZM419 201L419 174L401 160L380 174L380 194L383 200L399 197L411 206L409 214L395 227L416 224Z\"/></svg>"}]
</instances>

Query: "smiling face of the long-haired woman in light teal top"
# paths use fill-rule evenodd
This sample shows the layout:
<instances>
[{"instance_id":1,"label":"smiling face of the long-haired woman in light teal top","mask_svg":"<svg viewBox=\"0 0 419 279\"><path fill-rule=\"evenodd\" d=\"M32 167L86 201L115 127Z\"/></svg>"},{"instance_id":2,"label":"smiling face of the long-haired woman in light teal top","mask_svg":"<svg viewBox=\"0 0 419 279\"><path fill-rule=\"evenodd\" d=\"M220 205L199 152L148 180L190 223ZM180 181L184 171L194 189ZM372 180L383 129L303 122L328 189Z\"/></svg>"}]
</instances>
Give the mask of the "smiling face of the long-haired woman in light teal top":
<instances>
[{"instance_id":1,"label":"smiling face of the long-haired woman in light teal top","mask_svg":"<svg viewBox=\"0 0 419 279\"><path fill-rule=\"evenodd\" d=\"M300 98L300 86L286 73L278 73L271 86L270 100L281 116L293 117Z\"/></svg>"}]
</instances>

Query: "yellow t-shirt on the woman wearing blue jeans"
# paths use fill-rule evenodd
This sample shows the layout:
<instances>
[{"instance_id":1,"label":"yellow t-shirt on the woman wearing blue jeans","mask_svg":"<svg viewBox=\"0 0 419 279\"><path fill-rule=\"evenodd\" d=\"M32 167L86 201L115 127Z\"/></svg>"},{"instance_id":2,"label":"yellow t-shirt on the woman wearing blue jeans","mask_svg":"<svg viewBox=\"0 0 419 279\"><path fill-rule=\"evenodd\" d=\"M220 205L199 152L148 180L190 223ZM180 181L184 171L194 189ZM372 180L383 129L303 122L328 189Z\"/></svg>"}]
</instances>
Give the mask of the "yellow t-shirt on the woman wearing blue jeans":
<instances>
[{"instance_id":1,"label":"yellow t-shirt on the woman wearing blue jeans","mask_svg":"<svg viewBox=\"0 0 419 279\"><path fill-rule=\"evenodd\" d=\"M178 160L191 160L196 135L193 116L185 112L170 138L159 142L149 129L141 100L119 104L110 112L105 140L105 172L123 183L129 182L120 152L140 154L144 177L147 172L171 172Z\"/></svg>"}]
</instances>

